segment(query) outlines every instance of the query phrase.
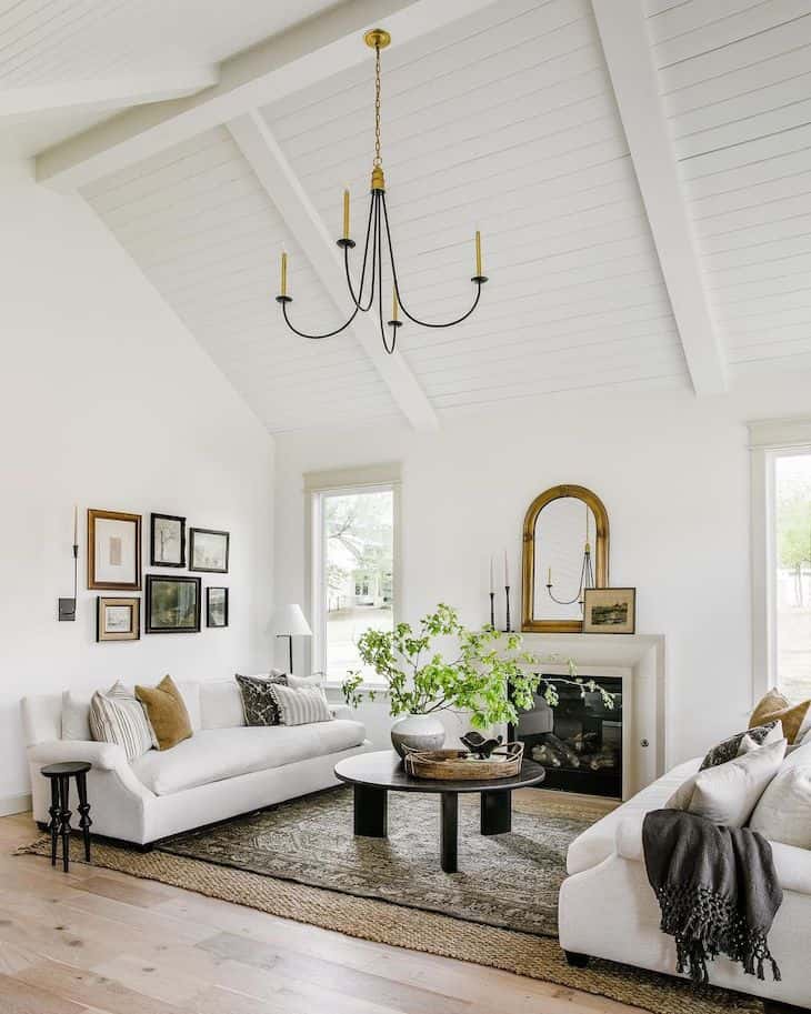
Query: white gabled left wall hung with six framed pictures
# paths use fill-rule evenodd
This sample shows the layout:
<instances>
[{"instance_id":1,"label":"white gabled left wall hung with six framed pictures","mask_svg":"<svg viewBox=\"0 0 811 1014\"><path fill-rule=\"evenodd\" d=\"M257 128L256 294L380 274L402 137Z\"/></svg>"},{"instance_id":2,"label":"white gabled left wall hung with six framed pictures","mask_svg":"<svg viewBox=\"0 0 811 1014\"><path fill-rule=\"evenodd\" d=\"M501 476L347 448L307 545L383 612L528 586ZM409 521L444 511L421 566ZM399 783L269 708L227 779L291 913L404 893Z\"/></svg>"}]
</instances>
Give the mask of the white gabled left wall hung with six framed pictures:
<instances>
[{"instance_id":1,"label":"white gabled left wall hung with six framed pictures","mask_svg":"<svg viewBox=\"0 0 811 1014\"><path fill-rule=\"evenodd\" d=\"M267 666L273 444L83 202L34 187L21 165L0 167L0 805L9 805L27 792L23 694ZM230 573L201 576L203 589L230 586L230 626L97 644L83 532L78 620L57 622L58 596L72 593L74 503L142 513L144 571L150 511L229 530Z\"/></svg>"}]
</instances>

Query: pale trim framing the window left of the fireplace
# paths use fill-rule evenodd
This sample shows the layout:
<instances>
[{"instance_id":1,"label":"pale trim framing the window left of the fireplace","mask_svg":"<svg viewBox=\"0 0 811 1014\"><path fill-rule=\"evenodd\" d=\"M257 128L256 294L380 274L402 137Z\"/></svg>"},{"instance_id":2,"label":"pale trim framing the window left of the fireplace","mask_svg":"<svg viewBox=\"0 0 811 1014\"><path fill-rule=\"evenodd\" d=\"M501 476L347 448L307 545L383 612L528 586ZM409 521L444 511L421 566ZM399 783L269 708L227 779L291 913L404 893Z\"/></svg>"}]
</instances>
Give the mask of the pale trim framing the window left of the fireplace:
<instances>
[{"instance_id":1,"label":"pale trim framing the window left of the fireplace","mask_svg":"<svg viewBox=\"0 0 811 1014\"><path fill-rule=\"evenodd\" d=\"M308 614L312 624L309 666L310 671L323 671L324 645L327 636L327 616L323 611L323 574L322 552L323 519L321 516L321 500L324 494L352 493L391 490L393 499L393 546L392 563L394 579L392 582L394 593L394 608L392 618L394 623L400 621L402 608L402 511L401 511L401 468L399 462L367 465L358 469L334 469L324 472L308 472L304 474L304 566L307 569L306 602ZM342 679L327 675L324 685L328 687L340 686ZM363 684L369 689L380 690L384 684L367 681Z\"/></svg>"}]
</instances>

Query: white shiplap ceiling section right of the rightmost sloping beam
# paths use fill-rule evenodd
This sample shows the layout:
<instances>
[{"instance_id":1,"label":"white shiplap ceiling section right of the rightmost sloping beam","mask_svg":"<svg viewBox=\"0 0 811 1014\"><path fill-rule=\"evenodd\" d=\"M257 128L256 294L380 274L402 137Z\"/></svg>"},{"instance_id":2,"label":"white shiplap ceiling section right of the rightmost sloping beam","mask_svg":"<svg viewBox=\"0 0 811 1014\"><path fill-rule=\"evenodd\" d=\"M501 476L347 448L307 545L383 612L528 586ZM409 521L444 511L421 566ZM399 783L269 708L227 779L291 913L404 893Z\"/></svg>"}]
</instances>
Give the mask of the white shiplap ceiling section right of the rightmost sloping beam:
<instances>
[{"instance_id":1,"label":"white shiplap ceiling section right of the rightmost sloping beam","mask_svg":"<svg viewBox=\"0 0 811 1014\"><path fill-rule=\"evenodd\" d=\"M660 91L734 375L811 365L811 4L651 0Z\"/></svg>"}]
</instances>

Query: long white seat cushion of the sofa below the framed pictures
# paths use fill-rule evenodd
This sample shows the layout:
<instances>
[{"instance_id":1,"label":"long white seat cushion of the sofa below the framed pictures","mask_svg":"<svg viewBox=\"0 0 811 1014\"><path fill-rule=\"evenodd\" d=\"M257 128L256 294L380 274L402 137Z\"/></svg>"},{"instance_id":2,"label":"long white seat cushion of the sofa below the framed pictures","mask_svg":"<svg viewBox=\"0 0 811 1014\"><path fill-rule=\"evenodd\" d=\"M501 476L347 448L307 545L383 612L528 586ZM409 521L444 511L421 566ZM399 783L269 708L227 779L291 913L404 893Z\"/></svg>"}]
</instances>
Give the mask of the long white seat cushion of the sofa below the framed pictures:
<instances>
[{"instance_id":1,"label":"long white seat cushion of the sofa below the framed pictures","mask_svg":"<svg viewBox=\"0 0 811 1014\"><path fill-rule=\"evenodd\" d=\"M360 746L364 735L360 722L348 720L291 727L203 729L171 750L150 751L132 764L132 770L156 795L171 795Z\"/></svg>"}]
</instances>

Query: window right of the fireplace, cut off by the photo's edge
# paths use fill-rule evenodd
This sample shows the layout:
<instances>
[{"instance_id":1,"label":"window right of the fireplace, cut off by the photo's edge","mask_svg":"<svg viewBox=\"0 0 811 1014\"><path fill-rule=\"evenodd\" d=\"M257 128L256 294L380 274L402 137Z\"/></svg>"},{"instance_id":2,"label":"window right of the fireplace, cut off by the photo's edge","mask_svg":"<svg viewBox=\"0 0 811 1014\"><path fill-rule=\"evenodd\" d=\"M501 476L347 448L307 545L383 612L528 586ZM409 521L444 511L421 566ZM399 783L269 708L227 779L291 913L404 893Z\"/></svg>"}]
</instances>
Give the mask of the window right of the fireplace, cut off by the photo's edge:
<instances>
[{"instance_id":1,"label":"window right of the fireplace, cut off by the photo's edge","mask_svg":"<svg viewBox=\"0 0 811 1014\"><path fill-rule=\"evenodd\" d=\"M811 421L752 423L755 695L811 696Z\"/></svg>"}]
</instances>

